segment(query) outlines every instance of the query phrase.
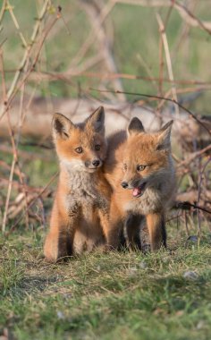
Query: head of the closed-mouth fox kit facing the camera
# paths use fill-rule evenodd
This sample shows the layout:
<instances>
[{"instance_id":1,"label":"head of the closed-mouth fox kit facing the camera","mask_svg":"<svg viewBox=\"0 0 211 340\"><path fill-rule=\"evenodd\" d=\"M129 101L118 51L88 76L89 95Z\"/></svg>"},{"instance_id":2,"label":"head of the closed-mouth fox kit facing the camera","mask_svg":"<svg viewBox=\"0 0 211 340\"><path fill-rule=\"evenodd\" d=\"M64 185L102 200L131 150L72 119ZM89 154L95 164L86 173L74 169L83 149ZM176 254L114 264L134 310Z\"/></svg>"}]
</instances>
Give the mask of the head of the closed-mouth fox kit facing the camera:
<instances>
[{"instance_id":1,"label":"head of the closed-mouth fox kit facing the camera","mask_svg":"<svg viewBox=\"0 0 211 340\"><path fill-rule=\"evenodd\" d=\"M95 172L106 153L105 113L103 106L79 124L61 114L52 122L55 149L60 161L71 169Z\"/></svg>"}]
</instances>

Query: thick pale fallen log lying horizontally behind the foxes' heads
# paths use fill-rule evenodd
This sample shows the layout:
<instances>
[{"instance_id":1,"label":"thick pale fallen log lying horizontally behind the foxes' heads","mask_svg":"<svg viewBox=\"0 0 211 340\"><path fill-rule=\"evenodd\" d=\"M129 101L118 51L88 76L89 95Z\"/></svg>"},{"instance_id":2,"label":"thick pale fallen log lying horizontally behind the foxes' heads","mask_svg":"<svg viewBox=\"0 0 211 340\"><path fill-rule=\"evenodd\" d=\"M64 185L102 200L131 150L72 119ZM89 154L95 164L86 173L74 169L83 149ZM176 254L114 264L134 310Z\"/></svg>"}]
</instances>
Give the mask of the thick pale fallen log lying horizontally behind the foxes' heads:
<instances>
[{"instance_id":1,"label":"thick pale fallen log lying horizontally behind the foxes' heads","mask_svg":"<svg viewBox=\"0 0 211 340\"><path fill-rule=\"evenodd\" d=\"M152 98L154 98L154 96L152 96ZM53 110L49 111L45 98L34 98L30 102L28 109L26 108L27 103L28 98L25 96L23 103L25 119L22 123L21 134L22 136L36 138L37 140L49 140L51 135L51 120L54 112L61 112L63 115L67 115L73 119L75 123L78 123L85 119L97 106L102 105L102 101L97 101L97 99L94 100L91 98L80 99L80 101L77 99L52 98ZM105 125L107 133L114 132L116 126L124 129L131 117L135 115L139 116L147 129L156 130L159 127L159 118L155 117L155 110L149 106L143 106L141 103L131 104L129 102L122 104L118 102L104 102L103 105L105 106ZM16 115L18 108L19 101L15 101L10 110L14 133L18 131L19 127L18 117ZM183 140L183 142L186 141L187 143L191 143L194 139L198 140L202 146L203 142L206 142L206 140L208 143L210 137L209 133L204 131L204 124L206 124L208 130L211 130L211 122L207 122L207 120L201 119L198 116L196 116L196 120L193 121L190 115L185 113L183 110L181 110L180 117L177 118L169 107L164 108L161 115L164 123L169 119L175 120L176 124L173 126L173 131L177 135L181 136L181 140ZM203 125L200 125L197 120L199 120L199 122ZM114 121L116 124L114 124ZM35 129L34 127L37 124L39 128ZM7 120L4 118L1 122L0 137L6 138L7 136ZM42 142L39 141L39 145L41 144ZM0 149L1 148L4 149L5 147L0 146Z\"/></svg>"}]
</instances>

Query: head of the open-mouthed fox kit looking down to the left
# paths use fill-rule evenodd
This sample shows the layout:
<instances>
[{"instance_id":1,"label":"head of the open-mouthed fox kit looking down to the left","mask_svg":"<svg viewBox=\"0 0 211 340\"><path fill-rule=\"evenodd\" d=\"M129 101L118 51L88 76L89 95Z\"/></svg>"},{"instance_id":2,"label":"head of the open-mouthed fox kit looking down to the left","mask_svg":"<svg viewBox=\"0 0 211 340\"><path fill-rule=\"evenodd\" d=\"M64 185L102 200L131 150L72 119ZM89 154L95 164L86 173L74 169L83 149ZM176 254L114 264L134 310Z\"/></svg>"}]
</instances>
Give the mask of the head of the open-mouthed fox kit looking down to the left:
<instances>
[{"instance_id":1,"label":"head of the open-mouthed fox kit looking down to the left","mask_svg":"<svg viewBox=\"0 0 211 340\"><path fill-rule=\"evenodd\" d=\"M140 197L148 187L159 189L168 181L171 171L171 128L173 121L155 133L147 133L139 118L134 117L128 127L128 139L122 164L122 188L131 189L133 197Z\"/></svg>"}]
</instances>

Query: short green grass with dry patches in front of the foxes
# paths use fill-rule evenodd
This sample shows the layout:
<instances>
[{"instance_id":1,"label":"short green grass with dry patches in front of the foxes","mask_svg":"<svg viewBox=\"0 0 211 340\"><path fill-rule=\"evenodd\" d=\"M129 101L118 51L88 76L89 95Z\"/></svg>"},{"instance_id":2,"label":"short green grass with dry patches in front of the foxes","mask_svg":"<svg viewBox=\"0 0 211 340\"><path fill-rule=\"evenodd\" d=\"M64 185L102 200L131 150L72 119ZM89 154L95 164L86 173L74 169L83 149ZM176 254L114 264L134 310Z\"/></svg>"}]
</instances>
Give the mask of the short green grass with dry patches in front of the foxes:
<instances>
[{"instance_id":1,"label":"short green grass with dry patches in front of the foxes","mask_svg":"<svg viewBox=\"0 0 211 340\"><path fill-rule=\"evenodd\" d=\"M42 237L1 242L0 328L15 339L209 338L210 234L186 248L172 229L172 251L96 252L62 264L43 259Z\"/></svg>"}]
</instances>

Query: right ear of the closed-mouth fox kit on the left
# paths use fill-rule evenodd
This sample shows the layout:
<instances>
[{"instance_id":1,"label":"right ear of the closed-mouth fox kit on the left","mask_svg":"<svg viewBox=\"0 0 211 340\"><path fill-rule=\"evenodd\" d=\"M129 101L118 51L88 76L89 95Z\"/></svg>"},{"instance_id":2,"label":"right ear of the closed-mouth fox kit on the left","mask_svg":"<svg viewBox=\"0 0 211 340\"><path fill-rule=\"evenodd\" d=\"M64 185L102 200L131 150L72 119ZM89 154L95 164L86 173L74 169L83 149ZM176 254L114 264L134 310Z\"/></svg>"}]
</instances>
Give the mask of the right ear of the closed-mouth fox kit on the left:
<instances>
[{"instance_id":1,"label":"right ear of the closed-mouth fox kit on the left","mask_svg":"<svg viewBox=\"0 0 211 340\"><path fill-rule=\"evenodd\" d=\"M105 133L105 112L103 106L99 106L93 114L89 115L86 120L86 126L94 129L97 133Z\"/></svg>"}]
</instances>

